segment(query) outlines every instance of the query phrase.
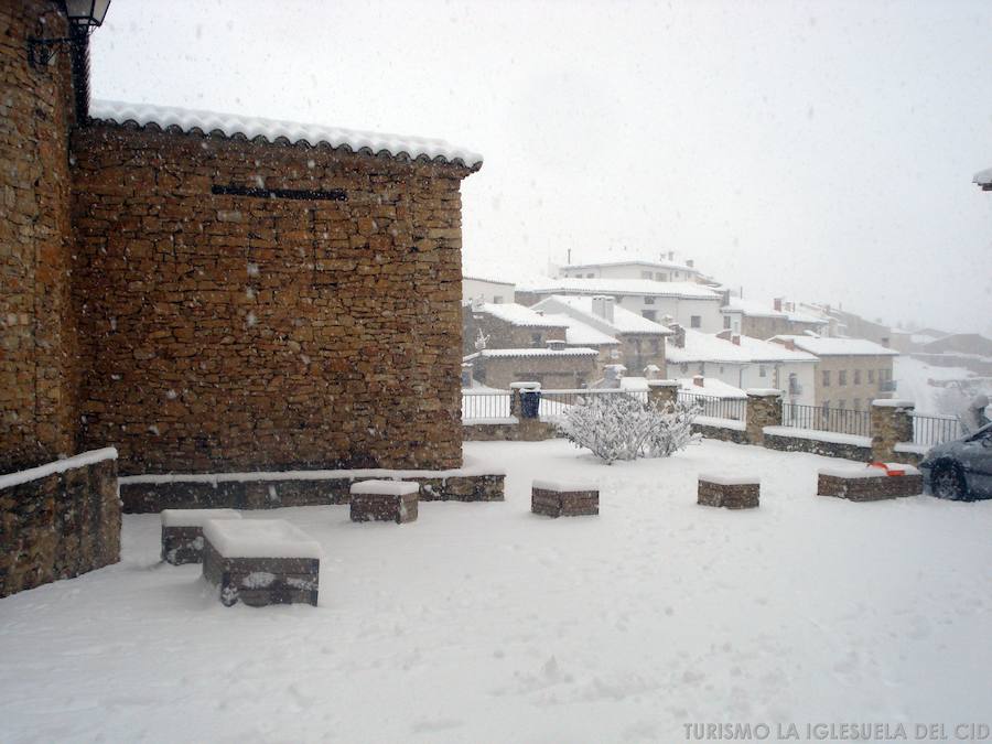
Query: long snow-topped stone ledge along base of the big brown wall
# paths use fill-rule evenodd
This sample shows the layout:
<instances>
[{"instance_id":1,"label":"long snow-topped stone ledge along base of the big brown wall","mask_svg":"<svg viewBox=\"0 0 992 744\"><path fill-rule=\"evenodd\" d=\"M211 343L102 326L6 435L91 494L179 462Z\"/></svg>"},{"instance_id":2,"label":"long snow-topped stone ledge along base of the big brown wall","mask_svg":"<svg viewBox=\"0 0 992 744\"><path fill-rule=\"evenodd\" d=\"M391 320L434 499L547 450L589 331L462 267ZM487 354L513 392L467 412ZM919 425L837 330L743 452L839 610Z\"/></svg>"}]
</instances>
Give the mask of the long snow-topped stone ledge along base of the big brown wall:
<instances>
[{"instance_id":1,"label":"long snow-topped stone ledge along base of the big brown wall","mask_svg":"<svg viewBox=\"0 0 992 744\"><path fill-rule=\"evenodd\" d=\"M162 509L277 509L348 504L352 484L402 478L420 484L422 502L502 502L504 474L459 471L314 471L123 477L120 497L128 514Z\"/></svg>"}]
</instances>

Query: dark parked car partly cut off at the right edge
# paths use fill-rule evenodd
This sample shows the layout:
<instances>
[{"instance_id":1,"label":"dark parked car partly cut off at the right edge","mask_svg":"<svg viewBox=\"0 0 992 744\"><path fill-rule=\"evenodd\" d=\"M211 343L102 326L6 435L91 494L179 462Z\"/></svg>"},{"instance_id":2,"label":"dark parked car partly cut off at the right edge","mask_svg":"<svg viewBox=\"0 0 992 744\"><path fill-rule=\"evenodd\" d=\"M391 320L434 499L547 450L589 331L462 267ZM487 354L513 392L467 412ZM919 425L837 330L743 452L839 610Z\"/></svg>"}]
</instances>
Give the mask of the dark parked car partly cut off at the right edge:
<instances>
[{"instance_id":1,"label":"dark parked car partly cut off at the right edge","mask_svg":"<svg viewBox=\"0 0 992 744\"><path fill-rule=\"evenodd\" d=\"M992 498L992 424L938 444L927 452L919 468L938 498Z\"/></svg>"}]
</instances>

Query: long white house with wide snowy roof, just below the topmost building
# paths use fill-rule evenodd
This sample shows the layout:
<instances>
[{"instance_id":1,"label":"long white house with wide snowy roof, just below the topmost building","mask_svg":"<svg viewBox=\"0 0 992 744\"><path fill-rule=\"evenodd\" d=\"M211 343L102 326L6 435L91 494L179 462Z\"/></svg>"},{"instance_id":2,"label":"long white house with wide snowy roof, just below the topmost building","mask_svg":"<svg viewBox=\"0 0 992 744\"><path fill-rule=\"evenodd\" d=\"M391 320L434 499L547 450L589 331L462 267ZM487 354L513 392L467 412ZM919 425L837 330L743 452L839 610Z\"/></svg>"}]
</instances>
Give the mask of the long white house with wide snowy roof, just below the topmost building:
<instances>
[{"instance_id":1,"label":"long white house with wide snowy roof, just below the topmost building","mask_svg":"<svg viewBox=\"0 0 992 744\"><path fill-rule=\"evenodd\" d=\"M517 302L533 305L559 295L612 296L623 308L656 323L666 316L703 333L723 328L720 306L723 294L692 282L658 282L651 279L532 279L517 284Z\"/></svg>"}]
</instances>

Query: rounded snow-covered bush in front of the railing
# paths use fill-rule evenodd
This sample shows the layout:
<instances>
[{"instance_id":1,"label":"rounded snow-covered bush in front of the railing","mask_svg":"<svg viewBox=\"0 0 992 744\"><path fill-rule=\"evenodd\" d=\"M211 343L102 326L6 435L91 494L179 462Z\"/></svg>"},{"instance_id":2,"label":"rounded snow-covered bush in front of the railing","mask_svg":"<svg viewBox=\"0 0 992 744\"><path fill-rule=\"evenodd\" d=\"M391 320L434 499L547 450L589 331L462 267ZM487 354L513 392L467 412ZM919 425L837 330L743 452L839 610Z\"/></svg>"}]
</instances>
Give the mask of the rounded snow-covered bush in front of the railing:
<instances>
[{"instance_id":1,"label":"rounded snow-covered bush in front of the railing","mask_svg":"<svg viewBox=\"0 0 992 744\"><path fill-rule=\"evenodd\" d=\"M697 405L640 402L628 395L594 395L572 406L558 427L572 444L607 465L617 460L667 457L699 441Z\"/></svg>"}]
</instances>

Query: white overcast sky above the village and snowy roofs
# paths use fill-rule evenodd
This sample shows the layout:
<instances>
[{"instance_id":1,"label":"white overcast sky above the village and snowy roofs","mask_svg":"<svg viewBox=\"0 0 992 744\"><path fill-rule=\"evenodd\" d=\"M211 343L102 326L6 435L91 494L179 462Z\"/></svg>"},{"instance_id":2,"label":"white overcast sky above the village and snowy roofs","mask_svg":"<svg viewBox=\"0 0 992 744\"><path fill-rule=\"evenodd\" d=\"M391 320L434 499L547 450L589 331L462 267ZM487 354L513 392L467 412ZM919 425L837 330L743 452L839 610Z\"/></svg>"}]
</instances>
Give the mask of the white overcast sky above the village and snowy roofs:
<instances>
[{"instance_id":1,"label":"white overcast sky above the village and snowy roofs","mask_svg":"<svg viewBox=\"0 0 992 744\"><path fill-rule=\"evenodd\" d=\"M93 95L442 137L468 269L675 250L992 333L992 2L114 0Z\"/></svg>"}]
</instances>

